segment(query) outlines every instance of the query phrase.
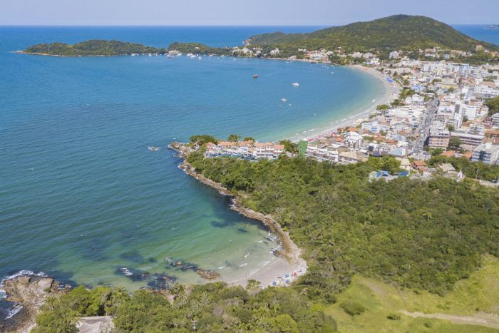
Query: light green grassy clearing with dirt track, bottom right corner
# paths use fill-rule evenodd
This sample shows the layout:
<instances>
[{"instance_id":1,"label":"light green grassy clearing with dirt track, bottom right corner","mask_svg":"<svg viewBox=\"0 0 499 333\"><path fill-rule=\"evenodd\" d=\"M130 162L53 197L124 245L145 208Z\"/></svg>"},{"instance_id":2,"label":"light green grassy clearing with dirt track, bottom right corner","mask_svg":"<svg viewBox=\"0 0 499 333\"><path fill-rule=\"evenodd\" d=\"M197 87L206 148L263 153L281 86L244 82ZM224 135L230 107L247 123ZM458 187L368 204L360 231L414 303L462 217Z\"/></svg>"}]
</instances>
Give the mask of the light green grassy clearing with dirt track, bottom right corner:
<instances>
[{"instance_id":1,"label":"light green grassy clearing with dirt track, bottom right corner","mask_svg":"<svg viewBox=\"0 0 499 333\"><path fill-rule=\"evenodd\" d=\"M353 301L365 308L351 316L341 307ZM457 324L449 320L409 317L401 313L453 315L454 322L471 317L473 322L498 324L497 328ZM486 256L483 267L461 280L444 297L421 290L400 290L391 285L356 276L336 304L326 309L338 322L340 332L499 332L499 260ZM389 319L398 314L400 319ZM393 316L392 316L393 317ZM396 317L396 316L395 316ZM465 317L465 318L463 318Z\"/></svg>"}]
</instances>

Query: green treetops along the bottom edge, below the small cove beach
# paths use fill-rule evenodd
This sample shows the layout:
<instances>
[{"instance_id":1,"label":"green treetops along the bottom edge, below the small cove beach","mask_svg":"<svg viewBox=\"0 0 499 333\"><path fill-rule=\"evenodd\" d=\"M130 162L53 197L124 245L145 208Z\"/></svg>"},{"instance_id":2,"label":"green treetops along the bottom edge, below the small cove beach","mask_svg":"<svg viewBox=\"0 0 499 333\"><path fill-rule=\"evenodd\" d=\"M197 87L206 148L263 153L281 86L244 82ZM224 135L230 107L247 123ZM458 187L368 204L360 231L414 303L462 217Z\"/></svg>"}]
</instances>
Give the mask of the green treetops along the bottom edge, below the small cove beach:
<instances>
[{"instance_id":1,"label":"green treetops along the bottom edge, below the small cove beach","mask_svg":"<svg viewBox=\"0 0 499 333\"><path fill-rule=\"evenodd\" d=\"M171 296L139 290L129 296L123 290L77 287L60 298L48 299L36 318L35 332L77 332L78 317L115 315L118 332L334 332L336 323L314 304L290 288L258 284L227 287L178 285Z\"/></svg>"}]
</instances>

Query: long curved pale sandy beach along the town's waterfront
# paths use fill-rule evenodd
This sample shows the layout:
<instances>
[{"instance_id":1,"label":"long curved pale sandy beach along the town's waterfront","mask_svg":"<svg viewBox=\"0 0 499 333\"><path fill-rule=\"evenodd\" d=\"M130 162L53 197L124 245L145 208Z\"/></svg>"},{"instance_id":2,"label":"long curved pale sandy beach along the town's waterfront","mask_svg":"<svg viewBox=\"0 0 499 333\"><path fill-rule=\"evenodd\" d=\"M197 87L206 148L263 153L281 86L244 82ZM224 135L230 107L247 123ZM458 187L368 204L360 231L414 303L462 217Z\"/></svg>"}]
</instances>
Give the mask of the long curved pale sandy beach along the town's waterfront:
<instances>
[{"instance_id":1,"label":"long curved pale sandy beach along the town's waterfront","mask_svg":"<svg viewBox=\"0 0 499 333\"><path fill-rule=\"evenodd\" d=\"M331 135L331 133L336 132L338 128L358 124L361 121L363 121L365 118L369 117L370 113L376 111L376 106L379 106L381 104L389 104L393 101L393 99L396 98L396 96L398 96L398 89L399 89L398 85L396 83L389 83L386 76L384 76L383 73L376 71L376 69L360 65L349 65L347 67L352 68L356 71L363 71L364 73L368 73L369 75L376 77L379 80L379 84L385 86L384 94L379 98L376 98L376 101L372 103L368 108L363 108L356 113L350 113L349 115L346 115L348 116L348 118L345 119L344 121L336 122L334 123L334 125L331 125L331 127L327 128L326 130L321 130L319 133L300 135L299 138L294 138L294 140L310 141L310 140L315 140L317 138L324 138L328 135Z\"/></svg>"}]
</instances>

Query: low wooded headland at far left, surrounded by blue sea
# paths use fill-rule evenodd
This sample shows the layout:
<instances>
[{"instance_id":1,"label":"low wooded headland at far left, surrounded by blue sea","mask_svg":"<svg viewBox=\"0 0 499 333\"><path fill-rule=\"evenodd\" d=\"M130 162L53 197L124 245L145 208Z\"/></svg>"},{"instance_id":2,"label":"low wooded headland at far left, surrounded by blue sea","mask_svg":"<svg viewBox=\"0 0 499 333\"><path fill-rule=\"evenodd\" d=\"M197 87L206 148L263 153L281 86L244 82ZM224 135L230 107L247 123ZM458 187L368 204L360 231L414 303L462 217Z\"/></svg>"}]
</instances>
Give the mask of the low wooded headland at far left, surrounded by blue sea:
<instances>
[{"instance_id":1,"label":"low wooded headland at far left, surrounded by blue sea","mask_svg":"<svg viewBox=\"0 0 499 333\"><path fill-rule=\"evenodd\" d=\"M165 51L165 48L101 39L83 41L73 45L66 43L37 44L24 50L25 53L38 53L49 56L123 56L132 53L165 53Z\"/></svg>"}]
</instances>

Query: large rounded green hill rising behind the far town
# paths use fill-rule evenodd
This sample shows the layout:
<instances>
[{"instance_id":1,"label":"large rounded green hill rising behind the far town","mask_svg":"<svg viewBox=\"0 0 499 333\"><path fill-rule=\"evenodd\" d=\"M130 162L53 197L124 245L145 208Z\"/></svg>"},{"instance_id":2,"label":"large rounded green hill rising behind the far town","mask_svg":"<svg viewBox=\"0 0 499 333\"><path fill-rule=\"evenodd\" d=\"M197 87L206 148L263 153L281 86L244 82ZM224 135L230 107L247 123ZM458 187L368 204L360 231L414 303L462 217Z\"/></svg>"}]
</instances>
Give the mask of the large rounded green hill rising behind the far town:
<instances>
[{"instance_id":1,"label":"large rounded green hill rising behind the far town","mask_svg":"<svg viewBox=\"0 0 499 333\"><path fill-rule=\"evenodd\" d=\"M453 27L426 16L395 15L368 22L335 26L307 34L262 34L247 39L252 45L282 45L284 48L344 51L417 50L440 46L449 50L475 51L481 45L490 51L499 46L472 39Z\"/></svg>"}]
</instances>

